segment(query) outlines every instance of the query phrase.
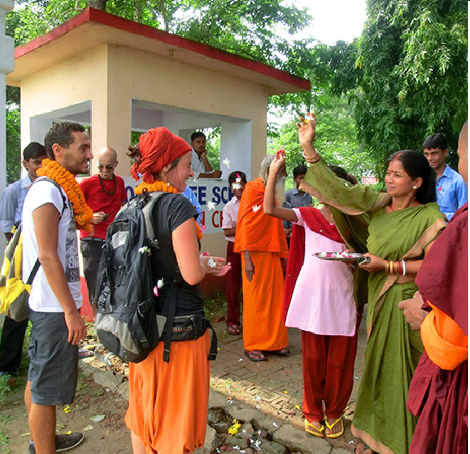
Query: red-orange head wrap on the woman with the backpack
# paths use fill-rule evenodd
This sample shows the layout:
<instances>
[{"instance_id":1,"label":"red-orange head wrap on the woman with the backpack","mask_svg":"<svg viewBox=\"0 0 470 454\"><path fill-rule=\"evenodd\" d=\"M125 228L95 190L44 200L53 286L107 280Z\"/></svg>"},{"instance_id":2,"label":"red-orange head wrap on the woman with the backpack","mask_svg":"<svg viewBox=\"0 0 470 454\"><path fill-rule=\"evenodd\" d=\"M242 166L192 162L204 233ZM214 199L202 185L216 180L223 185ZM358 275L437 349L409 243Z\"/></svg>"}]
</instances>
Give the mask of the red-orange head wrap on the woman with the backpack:
<instances>
[{"instance_id":1,"label":"red-orange head wrap on the woman with the backpack","mask_svg":"<svg viewBox=\"0 0 470 454\"><path fill-rule=\"evenodd\" d=\"M188 143L171 133L168 128L149 129L139 139L139 161L131 167L131 175L135 180L142 175L142 180L153 183L154 174L158 173L165 165L191 151Z\"/></svg>"}]
</instances>

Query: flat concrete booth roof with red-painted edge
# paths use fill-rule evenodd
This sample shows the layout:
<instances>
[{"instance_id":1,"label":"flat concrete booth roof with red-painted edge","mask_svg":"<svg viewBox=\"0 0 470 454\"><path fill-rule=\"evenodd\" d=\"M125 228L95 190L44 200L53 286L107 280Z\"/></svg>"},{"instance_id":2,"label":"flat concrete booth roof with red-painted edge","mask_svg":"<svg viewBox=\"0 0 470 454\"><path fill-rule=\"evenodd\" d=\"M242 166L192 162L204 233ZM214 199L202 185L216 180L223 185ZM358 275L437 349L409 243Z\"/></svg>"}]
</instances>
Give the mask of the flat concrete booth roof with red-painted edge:
<instances>
[{"instance_id":1,"label":"flat concrete booth roof with red-painted edge","mask_svg":"<svg viewBox=\"0 0 470 454\"><path fill-rule=\"evenodd\" d=\"M54 30L17 47L15 70L7 74L7 84L21 86L22 79L103 44L138 49L246 79L265 86L268 94L310 90L308 79L94 8L86 8Z\"/></svg>"}]
</instances>

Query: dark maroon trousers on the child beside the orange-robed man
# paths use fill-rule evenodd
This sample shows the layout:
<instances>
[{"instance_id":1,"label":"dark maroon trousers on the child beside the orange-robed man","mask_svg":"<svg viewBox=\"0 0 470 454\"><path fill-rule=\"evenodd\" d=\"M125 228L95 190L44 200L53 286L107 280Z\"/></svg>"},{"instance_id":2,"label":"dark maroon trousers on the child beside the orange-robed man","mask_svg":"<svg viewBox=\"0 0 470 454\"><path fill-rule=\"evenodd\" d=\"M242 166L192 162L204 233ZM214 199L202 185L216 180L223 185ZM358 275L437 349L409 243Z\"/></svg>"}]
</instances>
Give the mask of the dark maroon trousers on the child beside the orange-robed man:
<instances>
[{"instance_id":1,"label":"dark maroon trousers on the child beside the orange-robed man","mask_svg":"<svg viewBox=\"0 0 470 454\"><path fill-rule=\"evenodd\" d=\"M242 289L242 256L234 252L234 242L227 241L227 263L231 268L225 276L225 297L227 299L227 326L240 326L240 290Z\"/></svg>"}]
</instances>

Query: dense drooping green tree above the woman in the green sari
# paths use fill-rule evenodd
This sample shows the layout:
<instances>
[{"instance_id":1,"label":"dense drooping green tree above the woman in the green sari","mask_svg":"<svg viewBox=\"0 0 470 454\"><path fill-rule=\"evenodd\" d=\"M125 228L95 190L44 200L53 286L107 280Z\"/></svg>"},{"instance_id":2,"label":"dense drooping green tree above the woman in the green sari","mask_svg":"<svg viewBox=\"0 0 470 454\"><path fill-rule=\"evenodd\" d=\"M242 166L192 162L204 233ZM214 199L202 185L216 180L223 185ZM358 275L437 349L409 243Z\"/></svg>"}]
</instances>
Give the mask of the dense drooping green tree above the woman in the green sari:
<instances>
[{"instance_id":1,"label":"dense drooping green tree above the woman in the green sari","mask_svg":"<svg viewBox=\"0 0 470 454\"><path fill-rule=\"evenodd\" d=\"M359 138L378 163L399 149L421 150L437 132L446 134L455 157L468 115L467 53L466 1L368 1L354 103ZM351 58L345 63L354 70Z\"/></svg>"}]
</instances>

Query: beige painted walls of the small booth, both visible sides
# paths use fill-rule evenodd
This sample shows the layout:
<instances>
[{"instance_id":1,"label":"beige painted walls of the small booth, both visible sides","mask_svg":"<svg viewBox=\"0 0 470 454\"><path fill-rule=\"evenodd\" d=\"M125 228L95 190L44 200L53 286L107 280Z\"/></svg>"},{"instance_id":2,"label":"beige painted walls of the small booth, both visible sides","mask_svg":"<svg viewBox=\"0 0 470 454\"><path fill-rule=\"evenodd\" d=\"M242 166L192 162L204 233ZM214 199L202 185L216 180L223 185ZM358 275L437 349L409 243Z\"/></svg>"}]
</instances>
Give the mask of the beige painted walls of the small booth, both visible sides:
<instances>
[{"instance_id":1,"label":"beige painted walls of the small booth, both visible sides","mask_svg":"<svg viewBox=\"0 0 470 454\"><path fill-rule=\"evenodd\" d=\"M227 77L170 57L105 44L23 79L21 88L22 148L31 141L31 117L44 115L47 132L54 111L91 100L92 152L97 156L106 145L117 149L120 175L129 175L125 151L131 140L132 99L250 120L253 178L266 155L266 89L235 73ZM168 127L178 133L176 124ZM222 233L205 235L203 250L209 250L209 243L212 254L225 256Z\"/></svg>"}]
</instances>

